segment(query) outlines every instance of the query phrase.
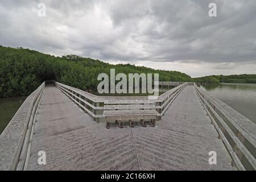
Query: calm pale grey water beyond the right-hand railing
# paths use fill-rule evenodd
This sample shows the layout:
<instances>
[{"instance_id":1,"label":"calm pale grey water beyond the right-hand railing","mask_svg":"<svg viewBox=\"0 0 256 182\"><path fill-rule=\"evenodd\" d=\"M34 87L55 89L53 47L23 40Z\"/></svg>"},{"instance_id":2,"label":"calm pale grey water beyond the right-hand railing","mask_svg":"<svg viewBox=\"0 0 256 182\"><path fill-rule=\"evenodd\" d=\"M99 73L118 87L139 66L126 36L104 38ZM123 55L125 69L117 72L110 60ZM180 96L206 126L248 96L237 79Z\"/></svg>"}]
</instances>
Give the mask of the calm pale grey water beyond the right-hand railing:
<instances>
[{"instance_id":1,"label":"calm pale grey water beyond the right-hand railing","mask_svg":"<svg viewBox=\"0 0 256 182\"><path fill-rule=\"evenodd\" d=\"M221 83L200 87L256 123L256 84Z\"/></svg>"}]
</instances>

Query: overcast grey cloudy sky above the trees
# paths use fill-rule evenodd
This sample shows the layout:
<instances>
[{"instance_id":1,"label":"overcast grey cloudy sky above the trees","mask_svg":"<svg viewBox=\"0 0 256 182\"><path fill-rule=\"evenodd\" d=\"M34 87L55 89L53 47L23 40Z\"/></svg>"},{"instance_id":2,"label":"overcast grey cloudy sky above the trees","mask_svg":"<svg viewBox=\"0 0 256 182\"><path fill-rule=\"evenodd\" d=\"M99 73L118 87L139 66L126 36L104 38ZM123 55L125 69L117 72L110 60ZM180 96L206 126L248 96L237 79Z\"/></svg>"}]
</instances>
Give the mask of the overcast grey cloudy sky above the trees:
<instances>
[{"instance_id":1,"label":"overcast grey cloudy sky above the trees","mask_svg":"<svg viewBox=\"0 0 256 182\"><path fill-rule=\"evenodd\" d=\"M1 0L0 44L192 77L256 73L256 1Z\"/></svg>"}]
</instances>

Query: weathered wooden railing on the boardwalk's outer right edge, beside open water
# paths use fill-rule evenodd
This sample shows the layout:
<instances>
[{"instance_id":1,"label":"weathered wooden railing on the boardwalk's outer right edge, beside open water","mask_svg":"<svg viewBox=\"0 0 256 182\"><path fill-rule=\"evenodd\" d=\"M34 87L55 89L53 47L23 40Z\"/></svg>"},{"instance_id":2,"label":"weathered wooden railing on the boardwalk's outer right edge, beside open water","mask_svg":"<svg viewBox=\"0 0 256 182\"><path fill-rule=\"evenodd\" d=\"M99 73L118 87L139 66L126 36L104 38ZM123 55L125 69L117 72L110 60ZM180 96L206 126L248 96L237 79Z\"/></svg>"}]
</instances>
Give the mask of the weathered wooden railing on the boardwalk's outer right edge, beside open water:
<instances>
[{"instance_id":1,"label":"weathered wooden railing on the boardwalk's outer right edge, beside open water","mask_svg":"<svg viewBox=\"0 0 256 182\"><path fill-rule=\"evenodd\" d=\"M195 85L195 89L219 134L219 138L222 139L232 158L232 164L240 170L255 170L255 123L217 98L210 96L197 85ZM250 130L248 130L249 128Z\"/></svg>"}]
</instances>

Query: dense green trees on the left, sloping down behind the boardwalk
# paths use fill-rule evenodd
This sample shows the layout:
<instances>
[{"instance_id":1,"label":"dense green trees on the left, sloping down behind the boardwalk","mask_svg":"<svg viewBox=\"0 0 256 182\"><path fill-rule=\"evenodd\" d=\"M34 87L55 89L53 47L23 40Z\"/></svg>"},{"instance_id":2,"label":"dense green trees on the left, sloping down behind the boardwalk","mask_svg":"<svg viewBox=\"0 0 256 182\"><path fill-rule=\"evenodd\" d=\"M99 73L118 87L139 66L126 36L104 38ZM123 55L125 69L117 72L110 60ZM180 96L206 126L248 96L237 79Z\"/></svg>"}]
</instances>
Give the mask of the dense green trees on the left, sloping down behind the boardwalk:
<instances>
[{"instance_id":1,"label":"dense green trees on the left, sloping down behind the boardwalk","mask_svg":"<svg viewBox=\"0 0 256 182\"><path fill-rule=\"evenodd\" d=\"M112 65L76 55L52 56L25 48L0 46L0 98L24 96L43 81L56 80L85 91L97 90L100 73L159 73L160 81L192 81L185 73L131 64Z\"/></svg>"}]
</instances>

